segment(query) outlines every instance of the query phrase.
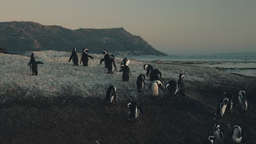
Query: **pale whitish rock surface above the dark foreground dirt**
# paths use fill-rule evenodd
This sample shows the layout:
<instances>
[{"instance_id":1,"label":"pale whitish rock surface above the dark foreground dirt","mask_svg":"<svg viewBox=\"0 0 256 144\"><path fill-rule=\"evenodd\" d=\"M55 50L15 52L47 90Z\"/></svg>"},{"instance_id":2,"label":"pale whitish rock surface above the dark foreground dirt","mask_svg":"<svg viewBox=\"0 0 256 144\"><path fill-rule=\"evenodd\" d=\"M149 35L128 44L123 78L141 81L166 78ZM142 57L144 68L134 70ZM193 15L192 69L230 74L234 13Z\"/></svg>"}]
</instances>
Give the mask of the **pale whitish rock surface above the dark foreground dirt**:
<instances>
[{"instance_id":1,"label":"pale whitish rock surface above the dark foreground dirt","mask_svg":"<svg viewBox=\"0 0 256 144\"><path fill-rule=\"evenodd\" d=\"M12 95L15 97L27 97L42 95L54 97L57 95L79 95L83 97L105 98L107 88L110 85L117 87L118 99L138 97L136 80L139 74L146 74L143 65L149 62L131 59L129 65L132 73L130 82L122 81L122 73L119 66L122 58L116 58L118 70L114 74L107 74L104 64L100 65L103 55L91 54L95 59L89 59L89 67L73 66L68 59L71 52L36 51L38 64L38 76L31 76L32 71L27 63L32 52L20 55L4 55L0 53L0 100ZM79 62L82 53L78 53ZM193 65L181 64L156 64L151 63L162 73L163 84L171 79L177 80L180 73L185 74L185 81L193 83L218 81L219 77L231 77L234 75L222 73L213 68L204 68ZM214 79L213 79L214 78ZM150 95L148 87L150 81L146 80L146 91L142 94ZM187 85L187 87L191 87Z\"/></svg>"}]
</instances>

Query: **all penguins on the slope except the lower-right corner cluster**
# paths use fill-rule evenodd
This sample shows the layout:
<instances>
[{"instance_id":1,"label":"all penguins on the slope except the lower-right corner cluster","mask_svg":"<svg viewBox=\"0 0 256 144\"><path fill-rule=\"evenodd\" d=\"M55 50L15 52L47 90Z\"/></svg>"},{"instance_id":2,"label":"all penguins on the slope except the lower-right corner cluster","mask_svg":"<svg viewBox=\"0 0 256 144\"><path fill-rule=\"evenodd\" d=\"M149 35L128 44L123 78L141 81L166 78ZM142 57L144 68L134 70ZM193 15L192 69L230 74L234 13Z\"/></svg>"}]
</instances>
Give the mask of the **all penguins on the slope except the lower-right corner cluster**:
<instances>
[{"instance_id":1,"label":"all penguins on the slope except the lower-right corner cluster","mask_svg":"<svg viewBox=\"0 0 256 144\"><path fill-rule=\"evenodd\" d=\"M88 55L89 50L84 48L82 53L82 58L80 60L80 64L83 62L83 66L87 67L89 63L89 58L94 59L92 56ZM104 58L101 59L100 64L104 62L104 67L108 69L108 74L113 74L113 70L117 70L117 65L115 64L114 55L109 56L106 50L102 51ZM31 54L31 60L28 63L32 70L32 75L38 75L37 64L44 64L42 62L37 62L34 58L35 54ZM73 48L72 54L69 57L69 62L73 61L73 65L78 66L78 55L76 48ZM130 81L131 79L131 71L129 68L130 59L124 58L120 64L120 72L123 72L123 81ZM144 69L147 71L146 76L149 81L152 83L149 86L149 90L152 93L153 97L159 96L159 88L164 90L162 82L160 81L162 74L159 69L154 69L152 65L145 64ZM140 74L137 78L137 92L141 93L145 87L146 76L144 74ZM171 80L166 83L165 88L167 91L171 93L171 95L176 95L177 93L184 95L184 74L179 75L178 81ZM106 103L112 104L113 101L117 100L117 88L114 86L109 86L106 93ZM141 106L136 102L132 101L127 104L127 107L130 109L130 117L129 121L136 121L139 111L142 111Z\"/></svg>"}]
</instances>

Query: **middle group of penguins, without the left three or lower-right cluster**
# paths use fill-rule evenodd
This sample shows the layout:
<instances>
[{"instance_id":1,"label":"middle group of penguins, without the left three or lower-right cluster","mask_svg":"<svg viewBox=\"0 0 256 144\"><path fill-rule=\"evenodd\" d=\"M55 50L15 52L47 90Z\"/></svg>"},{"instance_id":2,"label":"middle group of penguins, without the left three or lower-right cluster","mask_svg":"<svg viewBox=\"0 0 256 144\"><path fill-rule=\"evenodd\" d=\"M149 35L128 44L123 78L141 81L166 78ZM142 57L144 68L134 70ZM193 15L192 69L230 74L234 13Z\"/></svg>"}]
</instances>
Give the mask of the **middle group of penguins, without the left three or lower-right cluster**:
<instances>
[{"instance_id":1,"label":"middle group of penguins, without the left three or lower-right cluster","mask_svg":"<svg viewBox=\"0 0 256 144\"><path fill-rule=\"evenodd\" d=\"M105 62L105 68L108 68L108 73L113 73L113 69L117 70L114 62L114 56L109 56L107 51L102 51L104 54L104 58L101 59L102 63ZM120 64L120 71L123 71L123 81L129 81L131 78L131 71L129 68L130 59L124 58ZM164 90L162 82L160 78L162 77L161 71L159 69L154 69L152 65L145 64L144 70L147 71L146 75L140 74L137 77L137 92L141 93L145 88L145 80L146 76L149 81L152 81L149 86L149 90L152 93L153 97L159 96L159 88ZM177 93L183 94L185 91L184 81L183 81L184 74L179 75L179 80L176 82L174 80L169 81L166 83L165 88L171 93L171 95L176 95ZM109 86L106 93L106 103L113 104L114 101L117 100L117 88L113 85ZM131 101L127 103L127 108L129 111L129 119L128 121L136 122L136 118L138 117L139 112L142 112L142 107L137 101Z\"/></svg>"}]
</instances>

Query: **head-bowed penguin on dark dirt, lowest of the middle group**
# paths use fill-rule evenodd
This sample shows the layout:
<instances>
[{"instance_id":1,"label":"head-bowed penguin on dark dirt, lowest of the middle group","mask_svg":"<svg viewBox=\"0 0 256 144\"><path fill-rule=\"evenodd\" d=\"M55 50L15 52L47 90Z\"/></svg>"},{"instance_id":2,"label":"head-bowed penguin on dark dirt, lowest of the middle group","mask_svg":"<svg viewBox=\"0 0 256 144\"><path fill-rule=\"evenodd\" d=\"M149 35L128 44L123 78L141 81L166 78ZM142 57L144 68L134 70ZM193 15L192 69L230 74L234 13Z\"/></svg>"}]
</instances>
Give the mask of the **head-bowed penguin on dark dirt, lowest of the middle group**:
<instances>
[{"instance_id":1,"label":"head-bowed penguin on dark dirt, lowest of the middle group","mask_svg":"<svg viewBox=\"0 0 256 144\"><path fill-rule=\"evenodd\" d=\"M136 122L136 118L138 117L139 112L142 112L141 106L137 102L133 101L127 103L127 107L130 110L128 121Z\"/></svg>"}]
</instances>

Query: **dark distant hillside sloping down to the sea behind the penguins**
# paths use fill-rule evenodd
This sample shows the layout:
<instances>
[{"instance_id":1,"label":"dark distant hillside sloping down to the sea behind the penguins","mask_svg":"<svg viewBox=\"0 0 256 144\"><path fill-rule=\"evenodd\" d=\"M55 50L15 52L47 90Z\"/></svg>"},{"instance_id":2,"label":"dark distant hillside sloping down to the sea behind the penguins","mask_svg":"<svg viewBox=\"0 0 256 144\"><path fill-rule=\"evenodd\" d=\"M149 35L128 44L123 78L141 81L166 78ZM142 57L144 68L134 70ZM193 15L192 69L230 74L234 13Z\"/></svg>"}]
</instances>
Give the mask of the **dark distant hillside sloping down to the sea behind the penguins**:
<instances>
[{"instance_id":1,"label":"dark distant hillside sloping down to the sea behind the penguins","mask_svg":"<svg viewBox=\"0 0 256 144\"><path fill-rule=\"evenodd\" d=\"M132 52L133 55L166 55L155 50L141 37L124 28L71 30L61 26L44 26L36 22L0 22L0 47L11 53L25 51L57 50L91 52Z\"/></svg>"}]
</instances>

